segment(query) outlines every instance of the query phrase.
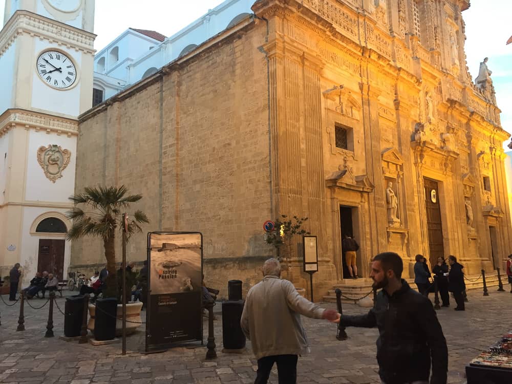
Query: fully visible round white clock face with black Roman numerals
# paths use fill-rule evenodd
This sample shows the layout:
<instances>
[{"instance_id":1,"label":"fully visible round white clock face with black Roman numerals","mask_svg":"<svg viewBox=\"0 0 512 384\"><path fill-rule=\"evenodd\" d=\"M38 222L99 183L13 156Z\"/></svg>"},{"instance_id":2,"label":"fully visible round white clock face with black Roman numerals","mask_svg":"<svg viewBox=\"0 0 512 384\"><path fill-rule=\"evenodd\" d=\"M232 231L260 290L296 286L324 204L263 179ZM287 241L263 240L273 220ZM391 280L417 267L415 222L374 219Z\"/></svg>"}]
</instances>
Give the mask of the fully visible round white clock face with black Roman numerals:
<instances>
[{"instance_id":1,"label":"fully visible round white clock face with black Roman numerals","mask_svg":"<svg viewBox=\"0 0 512 384\"><path fill-rule=\"evenodd\" d=\"M57 51L46 51L37 58L37 73L49 86L65 89L76 80L76 68L73 61Z\"/></svg>"}]
</instances>

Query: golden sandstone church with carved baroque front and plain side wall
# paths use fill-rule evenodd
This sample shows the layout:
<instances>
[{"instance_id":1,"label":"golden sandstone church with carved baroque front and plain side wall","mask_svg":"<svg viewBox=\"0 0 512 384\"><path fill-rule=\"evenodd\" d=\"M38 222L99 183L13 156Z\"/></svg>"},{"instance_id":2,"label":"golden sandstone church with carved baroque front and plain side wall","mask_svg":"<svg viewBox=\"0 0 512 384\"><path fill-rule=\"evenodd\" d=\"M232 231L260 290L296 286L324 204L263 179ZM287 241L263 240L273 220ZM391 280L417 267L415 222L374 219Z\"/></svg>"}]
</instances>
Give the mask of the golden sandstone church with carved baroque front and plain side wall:
<instances>
[{"instance_id":1,"label":"golden sandstone church with carved baroque front and plain side wall","mask_svg":"<svg viewBox=\"0 0 512 384\"><path fill-rule=\"evenodd\" d=\"M275 254L263 223L308 217L315 296L396 251L454 254L466 274L503 268L512 228L492 77L464 55L467 0L259 0L253 15L79 117L76 192L144 196L144 230L200 231L205 280L258 281ZM483 59L483 57L482 57ZM491 63L489 63L490 65ZM309 286L302 240L284 276ZM119 244L120 249L120 244ZM143 260L145 234L128 258ZM80 270L101 243L72 245Z\"/></svg>"}]
</instances>

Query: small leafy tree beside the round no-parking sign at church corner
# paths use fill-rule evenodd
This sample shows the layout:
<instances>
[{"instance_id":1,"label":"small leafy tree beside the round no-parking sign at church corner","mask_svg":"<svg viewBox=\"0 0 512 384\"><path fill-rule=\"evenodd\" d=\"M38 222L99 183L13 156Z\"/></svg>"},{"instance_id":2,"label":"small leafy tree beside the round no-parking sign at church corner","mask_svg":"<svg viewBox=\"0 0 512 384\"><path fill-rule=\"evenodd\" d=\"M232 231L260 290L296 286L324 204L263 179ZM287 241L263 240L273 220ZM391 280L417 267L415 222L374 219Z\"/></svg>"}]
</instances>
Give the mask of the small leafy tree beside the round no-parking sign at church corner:
<instances>
[{"instance_id":1,"label":"small leafy tree beside the round no-parking sign at church corner","mask_svg":"<svg viewBox=\"0 0 512 384\"><path fill-rule=\"evenodd\" d=\"M275 229L270 232L266 238L268 244L272 244L277 250L278 260L281 262L284 260L286 269L289 269L289 259L291 257L291 244L293 237L297 234L299 236L304 234L311 234L302 225L307 221L307 217L298 218L293 216L293 220L288 220L288 216L281 215L281 220L275 220ZM285 246L283 252L281 247ZM283 254L282 254L283 253Z\"/></svg>"}]
</instances>

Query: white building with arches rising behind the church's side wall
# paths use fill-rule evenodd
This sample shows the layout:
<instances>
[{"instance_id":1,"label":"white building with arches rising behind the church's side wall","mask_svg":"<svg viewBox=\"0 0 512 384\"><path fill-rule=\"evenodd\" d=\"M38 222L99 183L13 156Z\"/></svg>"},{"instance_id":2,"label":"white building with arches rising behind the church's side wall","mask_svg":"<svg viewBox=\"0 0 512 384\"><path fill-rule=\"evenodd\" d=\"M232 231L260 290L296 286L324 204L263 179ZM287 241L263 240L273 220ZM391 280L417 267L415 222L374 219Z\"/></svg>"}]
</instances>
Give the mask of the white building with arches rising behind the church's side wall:
<instances>
[{"instance_id":1,"label":"white building with arches rising behind the church's side wall","mask_svg":"<svg viewBox=\"0 0 512 384\"><path fill-rule=\"evenodd\" d=\"M94 58L93 105L114 96L218 33L252 17L255 0L226 0L173 36L129 28Z\"/></svg>"}]
</instances>

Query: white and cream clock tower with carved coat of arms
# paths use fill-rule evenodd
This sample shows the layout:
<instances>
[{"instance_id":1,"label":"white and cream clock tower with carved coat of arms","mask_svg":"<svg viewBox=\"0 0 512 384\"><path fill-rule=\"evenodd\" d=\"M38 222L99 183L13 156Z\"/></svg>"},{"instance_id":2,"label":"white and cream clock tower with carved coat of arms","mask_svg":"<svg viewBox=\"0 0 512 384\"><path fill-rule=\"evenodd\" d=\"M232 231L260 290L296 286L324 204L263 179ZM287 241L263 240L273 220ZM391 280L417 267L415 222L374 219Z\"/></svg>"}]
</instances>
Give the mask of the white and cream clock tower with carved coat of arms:
<instances>
[{"instance_id":1,"label":"white and cream clock tower with carved coat of arms","mask_svg":"<svg viewBox=\"0 0 512 384\"><path fill-rule=\"evenodd\" d=\"M0 31L0 276L66 279L77 117L92 105L94 0L7 0Z\"/></svg>"}]
</instances>

